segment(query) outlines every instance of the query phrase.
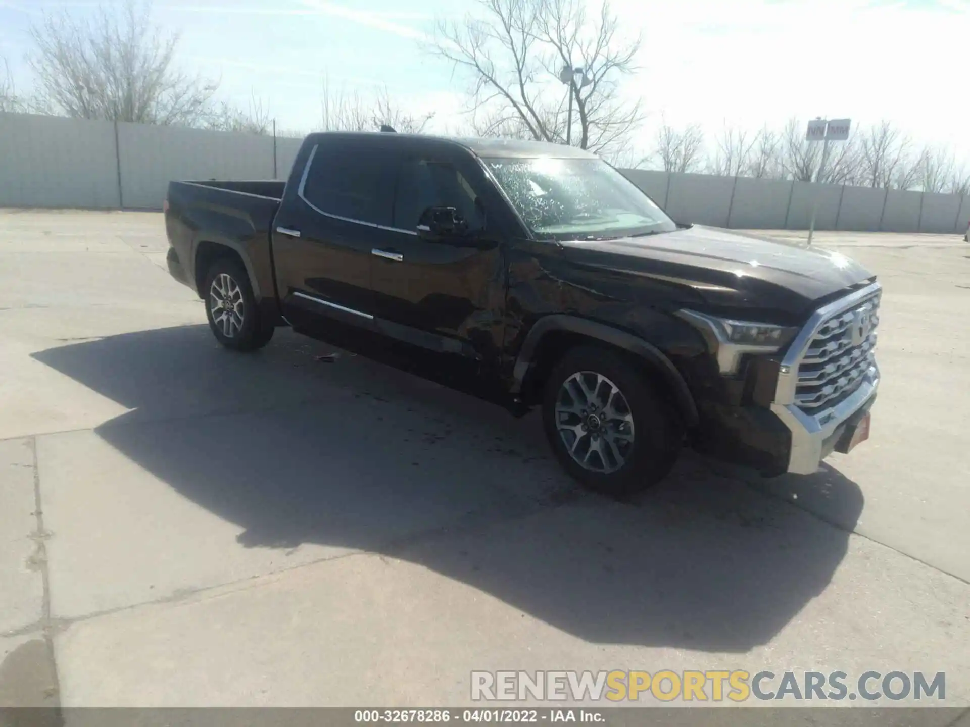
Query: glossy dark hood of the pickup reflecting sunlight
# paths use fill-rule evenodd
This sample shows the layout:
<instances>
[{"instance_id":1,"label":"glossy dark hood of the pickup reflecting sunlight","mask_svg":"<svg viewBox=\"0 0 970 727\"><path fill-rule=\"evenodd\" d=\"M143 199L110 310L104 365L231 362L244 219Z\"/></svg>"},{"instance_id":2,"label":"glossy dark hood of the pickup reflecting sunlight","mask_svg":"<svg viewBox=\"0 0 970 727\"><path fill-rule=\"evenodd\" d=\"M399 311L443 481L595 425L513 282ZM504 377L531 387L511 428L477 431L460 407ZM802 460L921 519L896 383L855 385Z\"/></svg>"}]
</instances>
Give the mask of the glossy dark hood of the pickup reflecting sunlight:
<instances>
[{"instance_id":1,"label":"glossy dark hood of the pickup reflecting sunlight","mask_svg":"<svg viewBox=\"0 0 970 727\"><path fill-rule=\"evenodd\" d=\"M874 277L837 252L701 226L562 245L574 264L688 286L718 308L800 315Z\"/></svg>"}]
</instances>

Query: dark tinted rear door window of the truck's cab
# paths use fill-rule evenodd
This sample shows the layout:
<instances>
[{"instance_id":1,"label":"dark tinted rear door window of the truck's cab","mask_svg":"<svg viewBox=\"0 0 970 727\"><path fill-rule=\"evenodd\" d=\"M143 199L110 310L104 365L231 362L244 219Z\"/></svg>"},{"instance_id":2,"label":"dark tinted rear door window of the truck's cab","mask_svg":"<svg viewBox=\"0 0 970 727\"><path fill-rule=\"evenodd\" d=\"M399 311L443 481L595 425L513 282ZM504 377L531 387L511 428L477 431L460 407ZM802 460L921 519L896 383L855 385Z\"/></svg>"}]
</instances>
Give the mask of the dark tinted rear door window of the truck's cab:
<instances>
[{"instance_id":1,"label":"dark tinted rear door window of the truck's cab","mask_svg":"<svg viewBox=\"0 0 970 727\"><path fill-rule=\"evenodd\" d=\"M386 150L321 143L310 162L304 199L325 214L390 226L398 164L397 155Z\"/></svg>"}]
</instances>

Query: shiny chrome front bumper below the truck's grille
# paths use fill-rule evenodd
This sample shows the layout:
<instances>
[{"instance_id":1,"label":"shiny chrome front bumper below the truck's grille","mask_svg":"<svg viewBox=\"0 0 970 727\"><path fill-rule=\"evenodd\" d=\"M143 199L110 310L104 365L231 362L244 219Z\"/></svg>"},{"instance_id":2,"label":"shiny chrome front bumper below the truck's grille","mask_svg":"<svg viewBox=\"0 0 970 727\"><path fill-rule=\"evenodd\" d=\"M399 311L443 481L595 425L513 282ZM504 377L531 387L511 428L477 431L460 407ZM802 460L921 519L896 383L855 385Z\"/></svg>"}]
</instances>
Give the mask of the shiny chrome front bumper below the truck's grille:
<instances>
[{"instance_id":1,"label":"shiny chrome front bumper below the truck's grille","mask_svg":"<svg viewBox=\"0 0 970 727\"><path fill-rule=\"evenodd\" d=\"M772 404L773 411L792 432L788 471L810 475L832 454L853 415L867 409L879 389L879 366L872 365L858 389L844 401L818 415L805 414L794 404Z\"/></svg>"}]
</instances>

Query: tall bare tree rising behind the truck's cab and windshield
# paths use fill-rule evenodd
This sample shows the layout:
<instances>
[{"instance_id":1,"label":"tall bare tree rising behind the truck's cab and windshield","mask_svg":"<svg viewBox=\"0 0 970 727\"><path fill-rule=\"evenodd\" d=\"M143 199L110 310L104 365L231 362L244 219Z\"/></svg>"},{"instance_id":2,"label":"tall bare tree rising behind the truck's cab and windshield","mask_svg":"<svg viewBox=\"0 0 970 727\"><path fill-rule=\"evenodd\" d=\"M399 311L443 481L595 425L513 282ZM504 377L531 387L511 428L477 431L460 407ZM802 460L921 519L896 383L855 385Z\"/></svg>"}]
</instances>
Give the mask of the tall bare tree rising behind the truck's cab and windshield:
<instances>
[{"instance_id":1,"label":"tall bare tree rising behind the truck's cab and windshield","mask_svg":"<svg viewBox=\"0 0 970 727\"><path fill-rule=\"evenodd\" d=\"M428 50L467 72L473 109L487 110L486 132L528 131L530 138L616 152L643 119L639 102L621 98L639 39L621 37L608 1L590 17L581 0L478 0L481 16L440 21ZM568 104L550 88L570 74L577 134L566 129ZM581 80L580 80L581 79ZM550 99L555 100L550 100Z\"/></svg>"}]
</instances>

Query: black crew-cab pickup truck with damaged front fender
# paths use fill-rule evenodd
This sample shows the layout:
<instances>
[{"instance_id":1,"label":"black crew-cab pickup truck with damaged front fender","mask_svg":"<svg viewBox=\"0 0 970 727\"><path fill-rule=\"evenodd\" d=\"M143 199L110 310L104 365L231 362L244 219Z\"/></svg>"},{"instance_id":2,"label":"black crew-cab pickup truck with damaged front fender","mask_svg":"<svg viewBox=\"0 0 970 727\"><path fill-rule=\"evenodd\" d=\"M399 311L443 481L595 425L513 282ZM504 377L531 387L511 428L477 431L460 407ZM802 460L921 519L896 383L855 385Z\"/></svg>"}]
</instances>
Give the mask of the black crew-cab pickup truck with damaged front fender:
<instances>
[{"instance_id":1,"label":"black crew-cab pickup truck with damaged front fender","mask_svg":"<svg viewBox=\"0 0 970 727\"><path fill-rule=\"evenodd\" d=\"M675 223L586 151L312 134L285 183L172 182L165 223L220 343L290 326L540 406L557 458L601 491L658 482L685 444L808 474L868 437L875 276Z\"/></svg>"}]
</instances>

